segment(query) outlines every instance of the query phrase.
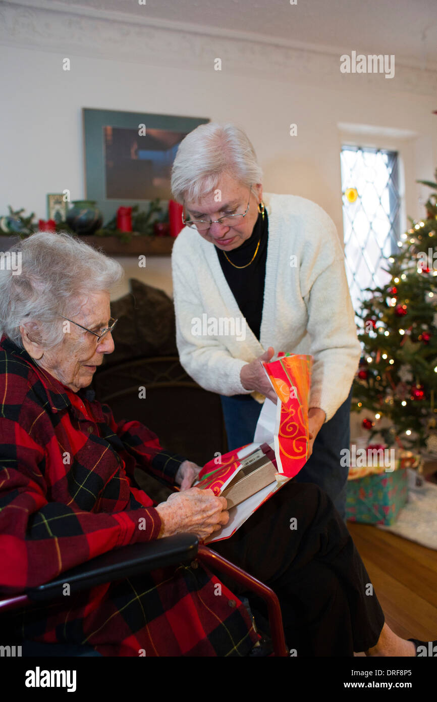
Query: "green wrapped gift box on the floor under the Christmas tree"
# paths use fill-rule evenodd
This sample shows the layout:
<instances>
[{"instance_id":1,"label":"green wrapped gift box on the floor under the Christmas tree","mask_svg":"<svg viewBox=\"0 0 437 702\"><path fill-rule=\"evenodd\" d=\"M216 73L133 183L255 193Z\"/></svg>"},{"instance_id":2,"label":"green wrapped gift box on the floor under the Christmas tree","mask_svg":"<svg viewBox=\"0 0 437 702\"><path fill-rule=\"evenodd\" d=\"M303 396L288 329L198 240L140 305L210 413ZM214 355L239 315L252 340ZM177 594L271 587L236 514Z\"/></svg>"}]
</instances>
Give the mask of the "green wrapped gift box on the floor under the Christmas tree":
<instances>
[{"instance_id":1,"label":"green wrapped gift box on the floor under the Christmas tree","mask_svg":"<svg viewBox=\"0 0 437 702\"><path fill-rule=\"evenodd\" d=\"M351 465L347 480L347 519L362 524L394 524L407 502L408 466L414 461L414 454L403 451L396 452L388 462Z\"/></svg>"}]
</instances>

